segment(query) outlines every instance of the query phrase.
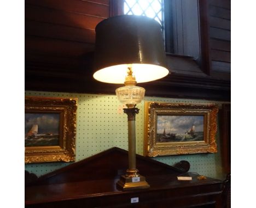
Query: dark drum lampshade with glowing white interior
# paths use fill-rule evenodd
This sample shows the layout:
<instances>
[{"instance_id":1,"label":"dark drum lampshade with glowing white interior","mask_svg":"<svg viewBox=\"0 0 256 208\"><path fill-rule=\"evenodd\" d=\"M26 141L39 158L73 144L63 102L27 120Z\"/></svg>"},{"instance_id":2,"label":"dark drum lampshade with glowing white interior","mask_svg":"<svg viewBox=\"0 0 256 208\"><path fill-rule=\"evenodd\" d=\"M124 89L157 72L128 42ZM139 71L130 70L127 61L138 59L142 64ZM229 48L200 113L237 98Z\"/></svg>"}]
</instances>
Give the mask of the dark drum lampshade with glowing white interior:
<instances>
[{"instance_id":1,"label":"dark drum lampshade with glowing white interior","mask_svg":"<svg viewBox=\"0 0 256 208\"><path fill-rule=\"evenodd\" d=\"M160 24L146 16L110 17L96 26L95 74L98 81L123 83L127 64L137 82L168 74Z\"/></svg>"}]
</instances>

